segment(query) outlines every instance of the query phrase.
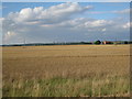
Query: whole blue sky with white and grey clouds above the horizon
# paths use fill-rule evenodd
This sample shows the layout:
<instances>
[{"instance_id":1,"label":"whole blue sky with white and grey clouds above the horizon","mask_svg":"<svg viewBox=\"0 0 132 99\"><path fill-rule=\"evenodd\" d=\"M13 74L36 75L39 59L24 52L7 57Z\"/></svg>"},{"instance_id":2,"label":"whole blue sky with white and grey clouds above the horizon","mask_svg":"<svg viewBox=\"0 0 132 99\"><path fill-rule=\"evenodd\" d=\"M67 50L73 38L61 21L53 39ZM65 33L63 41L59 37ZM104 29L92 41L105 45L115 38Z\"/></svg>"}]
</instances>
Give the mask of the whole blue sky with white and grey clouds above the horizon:
<instances>
[{"instance_id":1,"label":"whole blue sky with white and grey clouds above the horizon","mask_svg":"<svg viewBox=\"0 0 132 99\"><path fill-rule=\"evenodd\" d=\"M129 2L4 2L3 44L129 40Z\"/></svg>"}]
</instances>

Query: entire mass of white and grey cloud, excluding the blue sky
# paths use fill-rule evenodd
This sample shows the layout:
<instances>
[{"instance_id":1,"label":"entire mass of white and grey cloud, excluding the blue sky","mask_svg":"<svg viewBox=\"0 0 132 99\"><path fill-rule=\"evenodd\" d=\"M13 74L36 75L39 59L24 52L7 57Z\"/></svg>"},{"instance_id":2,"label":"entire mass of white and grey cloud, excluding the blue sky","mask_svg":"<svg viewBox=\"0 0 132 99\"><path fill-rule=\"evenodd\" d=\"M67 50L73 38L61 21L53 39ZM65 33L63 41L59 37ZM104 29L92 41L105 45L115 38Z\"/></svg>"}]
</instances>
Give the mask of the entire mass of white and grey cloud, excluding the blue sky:
<instances>
[{"instance_id":1,"label":"entire mass of white and grey cloud, excluding the blue sky","mask_svg":"<svg viewBox=\"0 0 132 99\"><path fill-rule=\"evenodd\" d=\"M87 37L92 41L97 38L96 36L103 38L103 34L108 38L114 36L128 37L129 23L122 20L75 16L89 9L91 9L91 6L81 7L79 3L68 2L47 9L37 7L11 12L7 18L0 19L0 21L3 21L3 40L7 43L22 43L23 38L26 37L30 43L87 41Z\"/></svg>"}]
</instances>

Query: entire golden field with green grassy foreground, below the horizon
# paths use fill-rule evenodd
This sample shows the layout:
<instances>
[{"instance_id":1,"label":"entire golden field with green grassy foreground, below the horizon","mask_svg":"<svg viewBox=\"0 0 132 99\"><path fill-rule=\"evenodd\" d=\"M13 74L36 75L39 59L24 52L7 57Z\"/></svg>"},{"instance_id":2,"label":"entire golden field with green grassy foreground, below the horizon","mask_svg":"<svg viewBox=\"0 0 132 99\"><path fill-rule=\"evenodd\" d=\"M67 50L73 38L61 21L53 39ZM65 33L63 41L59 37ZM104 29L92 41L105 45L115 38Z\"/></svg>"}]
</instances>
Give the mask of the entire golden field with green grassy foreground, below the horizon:
<instances>
[{"instance_id":1,"label":"entire golden field with green grassy foreground, below the horizon","mask_svg":"<svg viewBox=\"0 0 132 99\"><path fill-rule=\"evenodd\" d=\"M4 97L129 96L130 45L2 48Z\"/></svg>"}]
</instances>

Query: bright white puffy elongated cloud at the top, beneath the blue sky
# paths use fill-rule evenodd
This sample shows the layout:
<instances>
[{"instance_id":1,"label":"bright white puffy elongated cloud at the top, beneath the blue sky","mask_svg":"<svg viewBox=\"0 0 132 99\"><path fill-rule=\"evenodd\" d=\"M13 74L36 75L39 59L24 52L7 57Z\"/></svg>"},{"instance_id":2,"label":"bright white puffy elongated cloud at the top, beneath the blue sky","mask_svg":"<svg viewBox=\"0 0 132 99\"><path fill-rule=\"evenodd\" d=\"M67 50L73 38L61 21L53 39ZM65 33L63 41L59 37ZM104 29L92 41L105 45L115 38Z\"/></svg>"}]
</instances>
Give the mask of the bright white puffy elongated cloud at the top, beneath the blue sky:
<instances>
[{"instance_id":1,"label":"bright white puffy elongated cloud at the top, beneath the blue sky","mask_svg":"<svg viewBox=\"0 0 132 99\"><path fill-rule=\"evenodd\" d=\"M80 13L91 8L91 6L80 7L77 2L62 3L58 6L53 6L48 9L44 9L43 7L37 7L34 9L25 8L20 12L11 12L8 19L13 20L15 23L40 20L44 20L44 23L54 23L66 20L75 13Z\"/></svg>"}]
</instances>

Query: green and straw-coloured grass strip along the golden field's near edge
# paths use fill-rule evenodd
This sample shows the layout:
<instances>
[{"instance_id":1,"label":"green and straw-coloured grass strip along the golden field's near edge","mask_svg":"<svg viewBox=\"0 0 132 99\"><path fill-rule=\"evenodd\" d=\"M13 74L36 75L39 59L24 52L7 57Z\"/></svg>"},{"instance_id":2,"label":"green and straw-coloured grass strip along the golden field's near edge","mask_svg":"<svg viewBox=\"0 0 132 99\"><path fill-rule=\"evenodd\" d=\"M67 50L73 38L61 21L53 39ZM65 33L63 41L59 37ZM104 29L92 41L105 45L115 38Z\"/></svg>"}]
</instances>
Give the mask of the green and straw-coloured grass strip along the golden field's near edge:
<instances>
[{"instance_id":1,"label":"green and straw-coloured grass strip along the golden field's near edge","mask_svg":"<svg viewBox=\"0 0 132 99\"><path fill-rule=\"evenodd\" d=\"M21 79L3 84L3 97L123 97L130 92L128 80L129 77Z\"/></svg>"}]
</instances>

